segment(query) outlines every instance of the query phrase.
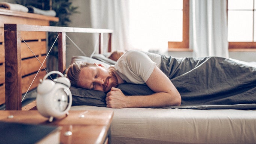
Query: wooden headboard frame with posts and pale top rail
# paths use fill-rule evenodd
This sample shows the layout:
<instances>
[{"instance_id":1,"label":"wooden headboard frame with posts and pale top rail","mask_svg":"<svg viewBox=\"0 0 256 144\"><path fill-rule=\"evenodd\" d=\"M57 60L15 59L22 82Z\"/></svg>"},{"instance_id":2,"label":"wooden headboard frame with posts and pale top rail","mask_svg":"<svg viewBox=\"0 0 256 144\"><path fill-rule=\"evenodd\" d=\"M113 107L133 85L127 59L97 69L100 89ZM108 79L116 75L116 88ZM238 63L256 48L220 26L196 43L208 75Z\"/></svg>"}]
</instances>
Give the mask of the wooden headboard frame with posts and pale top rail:
<instances>
[{"instance_id":1,"label":"wooden headboard frame with posts and pale top rail","mask_svg":"<svg viewBox=\"0 0 256 144\"><path fill-rule=\"evenodd\" d=\"M107 33L109 34L108 51L111 51L112 29L4 24L6 110L22 110L21 31L58 32L58 71L60 72L66 69L66 32L98 33L99 53L103 48L103 34Z\"/></svg>"}]
</instances>

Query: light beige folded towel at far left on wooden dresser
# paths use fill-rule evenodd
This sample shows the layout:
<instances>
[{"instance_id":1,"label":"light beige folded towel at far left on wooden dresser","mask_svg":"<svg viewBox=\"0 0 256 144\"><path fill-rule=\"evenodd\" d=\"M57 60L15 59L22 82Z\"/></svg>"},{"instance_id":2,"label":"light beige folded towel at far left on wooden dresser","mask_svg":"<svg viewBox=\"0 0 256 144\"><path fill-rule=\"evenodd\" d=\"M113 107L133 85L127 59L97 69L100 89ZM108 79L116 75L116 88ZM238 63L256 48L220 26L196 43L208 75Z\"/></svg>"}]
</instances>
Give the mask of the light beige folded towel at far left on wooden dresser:
<instances>
[{"instance_id":1,"label":"light beige folded towel at far left on wooden dresser","mask_svg":"<svg viewBox=\"0 0 256 144\"><path fill-rule=\"evenodd\" d=\"M1 9L15 10L19 12L28 12L28 8L16 3L0 2Z\"/></svg>"}]
</instances>

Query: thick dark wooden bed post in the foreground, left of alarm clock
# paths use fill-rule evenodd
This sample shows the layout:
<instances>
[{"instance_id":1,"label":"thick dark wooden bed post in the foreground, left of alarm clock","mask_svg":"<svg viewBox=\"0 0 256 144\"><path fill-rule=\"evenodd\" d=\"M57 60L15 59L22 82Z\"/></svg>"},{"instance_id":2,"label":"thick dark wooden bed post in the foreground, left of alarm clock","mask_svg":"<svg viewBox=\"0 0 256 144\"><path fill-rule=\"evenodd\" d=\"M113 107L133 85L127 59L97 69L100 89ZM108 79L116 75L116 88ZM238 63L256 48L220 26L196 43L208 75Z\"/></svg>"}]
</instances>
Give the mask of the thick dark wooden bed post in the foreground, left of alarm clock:
<instances>
[{"instance_id":1,"label":"thick dark wooden bed post in the foreground, left of alarm clock","mask_svg":"<svg viewBox=\"0 0 256 144\"><path fill-rule=\"evenodd\" d=\"M21 110L21 32L16 24L4 24L6 110Z\"/></svg>"}]
</instances>

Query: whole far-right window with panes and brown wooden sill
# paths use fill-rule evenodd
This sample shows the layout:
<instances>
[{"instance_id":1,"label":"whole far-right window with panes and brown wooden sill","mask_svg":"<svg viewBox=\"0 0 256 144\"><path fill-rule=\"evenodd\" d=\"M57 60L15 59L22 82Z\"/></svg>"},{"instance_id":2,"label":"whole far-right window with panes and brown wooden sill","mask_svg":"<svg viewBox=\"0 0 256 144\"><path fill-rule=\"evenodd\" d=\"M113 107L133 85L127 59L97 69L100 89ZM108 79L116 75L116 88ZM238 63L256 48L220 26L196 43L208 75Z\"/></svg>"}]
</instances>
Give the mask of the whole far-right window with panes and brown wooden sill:
<instances>
[{"instance_id":1,"label":"whole far-right window with panes and brown wooden sill","mask_svg":"<svg viewBox=\"0 0 256 144\"><path fill-rule=\"evenodd\" d=\"M229 49L256 48L256 0L227 0Z\"/></svg>"}]
</instances>

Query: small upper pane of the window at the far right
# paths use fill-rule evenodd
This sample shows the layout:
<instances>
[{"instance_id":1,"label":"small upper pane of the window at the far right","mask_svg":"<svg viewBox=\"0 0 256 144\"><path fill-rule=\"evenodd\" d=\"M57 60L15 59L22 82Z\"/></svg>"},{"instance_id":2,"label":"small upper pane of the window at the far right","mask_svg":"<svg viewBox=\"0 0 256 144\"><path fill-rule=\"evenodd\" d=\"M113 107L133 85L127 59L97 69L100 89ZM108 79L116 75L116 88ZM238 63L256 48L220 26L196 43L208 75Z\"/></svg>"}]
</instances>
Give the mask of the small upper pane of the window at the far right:
<instances>
[{"instance_id":1,"label":"small upper pane of the window at the far right","mask_svg":"<svg viewBox=\"0 0 256 144\"><path fill-rule=\"evenodd\" d=\"M253 0L229 0L228 9L253 9Z\"/></svg>"}]
</instances>

